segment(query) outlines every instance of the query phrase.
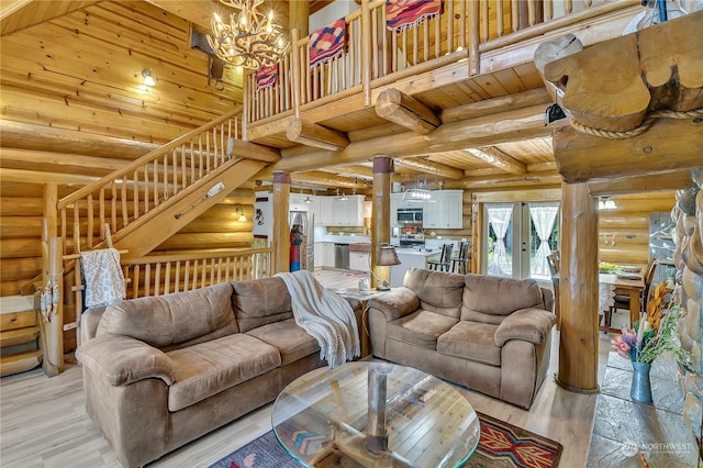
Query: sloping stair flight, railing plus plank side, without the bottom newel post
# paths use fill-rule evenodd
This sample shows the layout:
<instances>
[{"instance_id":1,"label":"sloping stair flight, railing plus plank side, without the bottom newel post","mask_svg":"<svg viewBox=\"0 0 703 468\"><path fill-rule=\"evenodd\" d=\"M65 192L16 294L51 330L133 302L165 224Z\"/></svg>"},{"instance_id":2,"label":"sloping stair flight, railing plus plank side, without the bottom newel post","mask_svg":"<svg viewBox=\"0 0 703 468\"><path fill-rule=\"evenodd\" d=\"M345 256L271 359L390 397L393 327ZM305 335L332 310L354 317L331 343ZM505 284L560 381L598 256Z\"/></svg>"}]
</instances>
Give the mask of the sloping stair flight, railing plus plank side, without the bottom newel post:
<instances>
[{"instance_id":1,"label":"sloping stair flight, railing plus plank side, without the bottom newel post","mask_svg":"<svg viewBox=\"0 0 703 468\"><path fill-rule=\"evenodd\" d=\"M227 151L239 134L237 109L59 200L64 255L103 247L105 225L126 257L149 253L268 164Z\"/></svg>"}]
</instances>

